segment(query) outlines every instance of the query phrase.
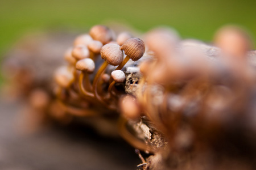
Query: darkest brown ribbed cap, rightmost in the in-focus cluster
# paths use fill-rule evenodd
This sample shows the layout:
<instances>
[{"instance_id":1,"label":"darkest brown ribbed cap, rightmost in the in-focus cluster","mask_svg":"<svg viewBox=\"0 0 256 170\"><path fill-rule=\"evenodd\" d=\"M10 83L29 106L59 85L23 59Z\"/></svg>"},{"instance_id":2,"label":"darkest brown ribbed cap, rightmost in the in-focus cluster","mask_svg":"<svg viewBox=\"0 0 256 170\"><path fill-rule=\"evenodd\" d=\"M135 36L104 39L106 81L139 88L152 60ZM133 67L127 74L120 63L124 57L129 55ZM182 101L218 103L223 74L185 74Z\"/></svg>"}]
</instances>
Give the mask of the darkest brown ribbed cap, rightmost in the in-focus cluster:
<instances>
[{"instance_id":1,"label":"darkest brown ribbed cap, rightmost in the in-focus cluster","mask_svg":"<svg viewBox=\"0 0 256 170\"><path fill-rule=\"evenodd\" d=\"M121 46L121 50L123 50L131 60L137 61L145 52L145 44L141 39L131 38Z\"/></svg>"}]
</instances>

